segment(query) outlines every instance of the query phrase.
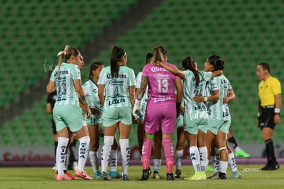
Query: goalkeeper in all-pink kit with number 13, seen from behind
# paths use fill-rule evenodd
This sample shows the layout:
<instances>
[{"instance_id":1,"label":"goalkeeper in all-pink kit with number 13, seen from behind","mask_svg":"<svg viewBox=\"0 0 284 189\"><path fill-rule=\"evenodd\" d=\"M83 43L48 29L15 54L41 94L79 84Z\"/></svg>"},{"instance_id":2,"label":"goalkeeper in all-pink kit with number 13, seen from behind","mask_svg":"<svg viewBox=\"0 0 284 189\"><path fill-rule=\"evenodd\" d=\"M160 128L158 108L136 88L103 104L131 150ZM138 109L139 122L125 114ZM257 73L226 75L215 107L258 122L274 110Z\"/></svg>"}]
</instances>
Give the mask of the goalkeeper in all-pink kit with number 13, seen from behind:
<instances>
[{"instance_id":1,"label":"goalkeeper in all-pink kit with number 13, seen from behind","mask_svg":"<svg viewBox=\"0 0 284 189\"><path fill-rule=\"evenodd\" d=\"M147 64L143 68L141 88L139 89L132 111L133 116L139 118L137 111L141 112L140 102L148 86L147 107L144 121L146 134L142 149L143 175L141 180L147 180L149 176L148 168L152 141L154 133L158 131L160 127L163 132L162 141L167 162L167 180L174 180L172 134L176 126L177 115L179 115L182 86L179 77L176 77L162 66L157 65L160 64L160 62L165 62L167 60L165 57L167 57L167 51L165 51L163 47L154 47L151 64ZM173 64L169 65L174 66ZM174 91L175 87L177 95Z\"/></svg>"}]
</instances>

